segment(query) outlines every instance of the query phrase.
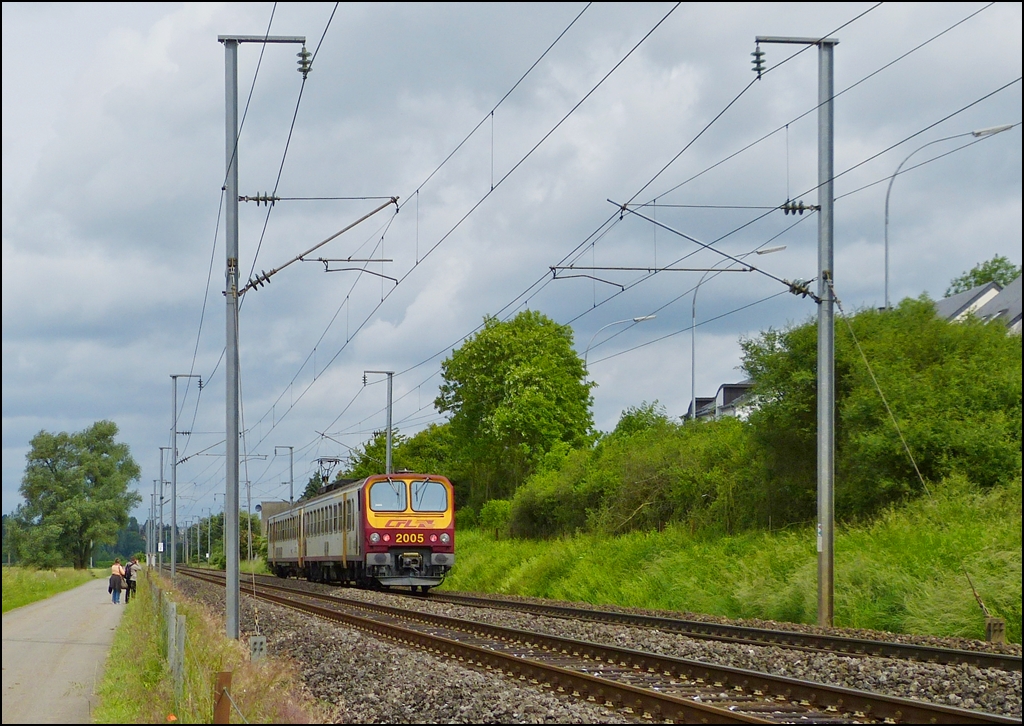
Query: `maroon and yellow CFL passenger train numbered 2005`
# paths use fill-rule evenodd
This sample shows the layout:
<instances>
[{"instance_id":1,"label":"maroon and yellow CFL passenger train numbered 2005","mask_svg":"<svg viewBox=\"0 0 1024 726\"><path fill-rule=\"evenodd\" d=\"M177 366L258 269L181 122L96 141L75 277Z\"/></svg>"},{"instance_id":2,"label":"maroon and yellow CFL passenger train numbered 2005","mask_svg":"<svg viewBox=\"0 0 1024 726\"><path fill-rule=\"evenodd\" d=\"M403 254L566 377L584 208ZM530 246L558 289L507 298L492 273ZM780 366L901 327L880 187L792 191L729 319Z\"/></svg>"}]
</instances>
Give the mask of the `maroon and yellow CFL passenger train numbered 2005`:
<instances>
[{"instance_id":1,"label":"maroon and yellow CFL passenger train numbered 2005","mask_svg":"<svg viewBox=\"0 0 1024 726\"><path fill-rule=\"evenodd\" d=\"M455 563L455 490L434 474L375 474L267 517L281 578L427 592Z\"/></svg>"}]
</instances>

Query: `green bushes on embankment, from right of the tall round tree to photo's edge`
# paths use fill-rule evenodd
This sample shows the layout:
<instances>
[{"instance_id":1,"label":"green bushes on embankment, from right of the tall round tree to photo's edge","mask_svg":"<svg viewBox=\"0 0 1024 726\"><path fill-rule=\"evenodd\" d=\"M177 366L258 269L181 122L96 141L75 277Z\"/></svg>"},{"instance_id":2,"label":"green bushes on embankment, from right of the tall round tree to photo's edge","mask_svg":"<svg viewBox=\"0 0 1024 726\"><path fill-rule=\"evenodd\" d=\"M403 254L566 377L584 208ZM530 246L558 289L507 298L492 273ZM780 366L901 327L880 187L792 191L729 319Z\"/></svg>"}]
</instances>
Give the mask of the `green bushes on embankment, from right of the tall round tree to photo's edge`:
<instances>
[{"instance_id":1,"label":"green bushes on embankment, from right of the tall round tree to photo's edge","mask_svg":"<svg viewBox=\"0 0 1024 726\"><path fill-rule=\"evenodd\" d=\"M983 486L1021 471L1021 339L976 321L951 324L928 300L851 321L911 461L853 337L836 345L836 511L877 515L964 474ZM630 409L592 449L554 449L512 499L521 537L660 529L732 532L808 522L816 502L816 326L743 342L757 402L749 421L673 421Z\"/></svg>"}]
</instances>

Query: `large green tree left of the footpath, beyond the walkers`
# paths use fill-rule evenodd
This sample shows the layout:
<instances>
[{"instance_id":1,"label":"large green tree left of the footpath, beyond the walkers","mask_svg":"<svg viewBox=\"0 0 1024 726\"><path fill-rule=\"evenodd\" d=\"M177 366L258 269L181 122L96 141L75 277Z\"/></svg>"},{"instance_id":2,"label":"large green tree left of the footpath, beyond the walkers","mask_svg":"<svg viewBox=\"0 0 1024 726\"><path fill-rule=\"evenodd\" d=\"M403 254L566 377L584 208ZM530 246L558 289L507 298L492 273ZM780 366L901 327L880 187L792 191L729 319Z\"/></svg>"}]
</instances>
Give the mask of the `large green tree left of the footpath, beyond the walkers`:
<instances>
[{"instance_id":1,"label":"large green tree left of the footpath, beyond the walkers","mask_svg":"<svg viewBox=\"0 0 1024 726\"><path fill-rule=\"evenodd\" d=\"M84 568L91 544L115 544L142 498L128 485L139 468L118 443L113 421L78 433L40 431L31 441L15 521L22 560L40 567Z\"/></svg>"}]
</instances>

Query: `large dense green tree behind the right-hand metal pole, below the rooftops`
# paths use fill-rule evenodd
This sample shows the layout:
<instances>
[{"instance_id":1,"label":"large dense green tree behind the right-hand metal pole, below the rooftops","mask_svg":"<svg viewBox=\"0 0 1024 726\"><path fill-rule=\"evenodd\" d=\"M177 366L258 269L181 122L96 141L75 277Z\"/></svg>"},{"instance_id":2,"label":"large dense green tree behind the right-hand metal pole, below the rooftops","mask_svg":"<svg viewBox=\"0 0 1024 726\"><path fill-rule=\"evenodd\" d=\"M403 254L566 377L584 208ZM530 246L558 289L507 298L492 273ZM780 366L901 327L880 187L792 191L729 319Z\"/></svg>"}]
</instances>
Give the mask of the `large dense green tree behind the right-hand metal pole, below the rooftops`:
<instances>
[{"instance_id":1,"label":"large dense green tree behind the right-hand metal pole, below the rooftops","mask_svg":"<svg viewBox=\"0 0 1024 726\"><path fill-rule=\"evenodd\" d=\"M889 313L864 310L851 327L926 481L955 473L982 485L1021 471L1021 339L1001 326L948 323L930 300ZM750 423L783 521L815 506L816 324L742 343L758 409ZM846 325L836 334L836 513L868 516L919 494L906 456Z\"/></svg>"}]
</instances>

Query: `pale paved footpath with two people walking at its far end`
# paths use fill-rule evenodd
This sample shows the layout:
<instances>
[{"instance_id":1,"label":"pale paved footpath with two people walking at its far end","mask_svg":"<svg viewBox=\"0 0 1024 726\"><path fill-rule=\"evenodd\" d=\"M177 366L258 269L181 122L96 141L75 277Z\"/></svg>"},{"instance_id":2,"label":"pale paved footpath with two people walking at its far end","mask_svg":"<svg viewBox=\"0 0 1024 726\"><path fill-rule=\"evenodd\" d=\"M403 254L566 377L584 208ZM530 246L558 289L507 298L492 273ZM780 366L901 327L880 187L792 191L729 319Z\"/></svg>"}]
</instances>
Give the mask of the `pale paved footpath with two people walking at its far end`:
<instances>
[{"instance_id":1,"label":"pale paved footpath with two people walking at its far end","mask_svg":"<svg viewBox=\"0 0 1024 726\"><path fill-rule=\"evenodd\" d=\"M3 723L91 723L124 607L104 578L3 613Z\"/></svg>"}]
</instances>

